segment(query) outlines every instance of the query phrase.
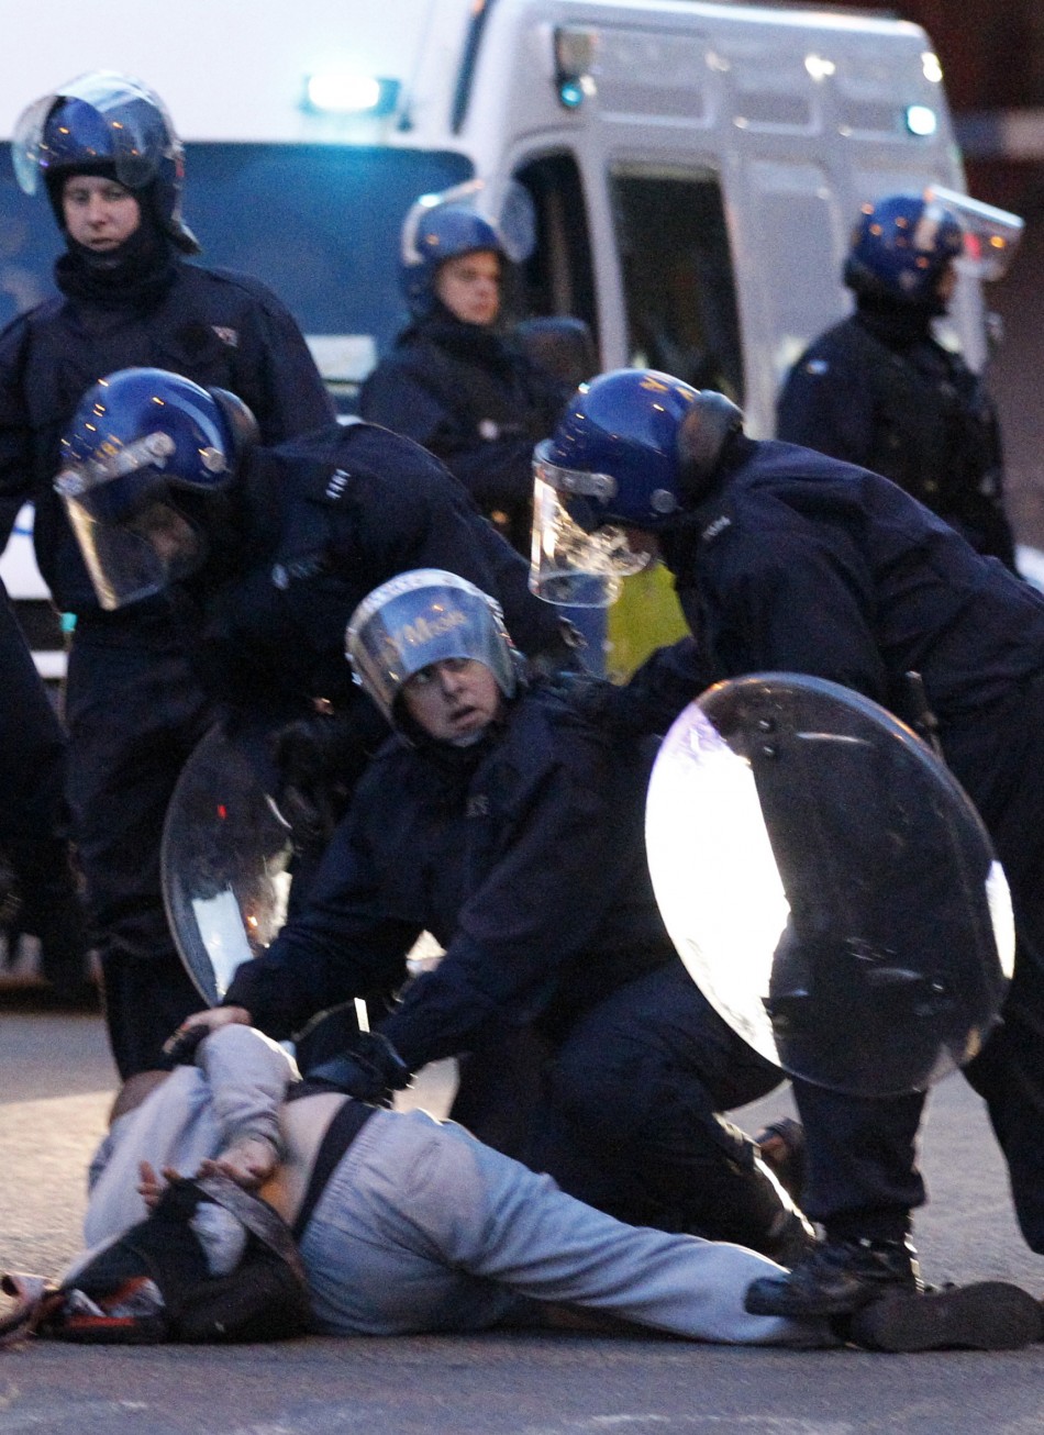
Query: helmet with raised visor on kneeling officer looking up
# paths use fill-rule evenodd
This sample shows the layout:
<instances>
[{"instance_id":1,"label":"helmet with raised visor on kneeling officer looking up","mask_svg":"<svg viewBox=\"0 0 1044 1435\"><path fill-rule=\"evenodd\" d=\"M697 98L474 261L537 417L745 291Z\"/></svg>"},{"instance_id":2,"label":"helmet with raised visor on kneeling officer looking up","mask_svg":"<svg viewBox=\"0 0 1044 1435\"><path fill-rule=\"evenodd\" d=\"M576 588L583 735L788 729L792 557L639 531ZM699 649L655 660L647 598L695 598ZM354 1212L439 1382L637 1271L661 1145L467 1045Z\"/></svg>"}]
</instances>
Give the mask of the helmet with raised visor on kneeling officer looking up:
<instances>
[{"instance_id":1,"label":"helmet with raised visor on kneeling officer looking up","mask_svg":"<svg viewBox=\"0 0 1044 1435\"><path fill-rule=\"evenodd\" d=\"M504 697L518 687L521 656L500 604L442 568L401 573L368 594L349 618L345 651L356 683L404 736L411 725L399 693L432 663L472 659L490 669Z\"/></svg>"}]
</instances>

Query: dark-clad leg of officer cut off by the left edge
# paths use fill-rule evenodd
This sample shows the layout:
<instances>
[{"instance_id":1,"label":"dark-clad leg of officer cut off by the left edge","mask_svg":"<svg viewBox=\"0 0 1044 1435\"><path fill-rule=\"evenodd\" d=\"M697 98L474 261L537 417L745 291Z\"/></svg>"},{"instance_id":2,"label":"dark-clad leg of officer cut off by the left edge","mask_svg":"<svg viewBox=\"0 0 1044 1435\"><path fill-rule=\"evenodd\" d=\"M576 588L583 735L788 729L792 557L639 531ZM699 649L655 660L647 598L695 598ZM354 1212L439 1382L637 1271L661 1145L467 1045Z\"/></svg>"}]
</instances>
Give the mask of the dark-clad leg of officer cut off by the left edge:
<instances>
[{"instance_id":1,"label":"dark-clad leg of officer cut off by the left edge","mask_svg":"<svg viewBox=\"0 0 1044 1435\"><path fill-rule=\"evenodd\" d=\"M0 854L16 878L9 951L40 941L40 971L60 1003L98 1004L65 809L66 739L0 583Z\"/></svg>"}]
</instances>

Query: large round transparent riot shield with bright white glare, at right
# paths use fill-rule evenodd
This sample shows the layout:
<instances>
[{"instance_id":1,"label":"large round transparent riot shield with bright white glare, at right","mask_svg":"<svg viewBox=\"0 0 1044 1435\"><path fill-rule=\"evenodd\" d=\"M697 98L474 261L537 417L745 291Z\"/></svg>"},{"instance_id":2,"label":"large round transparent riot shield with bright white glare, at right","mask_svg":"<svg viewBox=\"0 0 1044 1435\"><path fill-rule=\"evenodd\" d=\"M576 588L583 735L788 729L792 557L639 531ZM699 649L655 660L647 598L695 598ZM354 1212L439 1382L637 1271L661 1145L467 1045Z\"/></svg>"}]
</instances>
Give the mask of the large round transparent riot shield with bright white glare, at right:
<instances>
[{"instance_id":1,"label":"large round transparent riot shield with bright white glare, at right","mask_svg":"<svg viewBox=\"0 0 1044 1435\"><path fill-rule=\"evenodd\" d=\"M671 728L646 847L689 974L794 1076L925 1089L988 1036L1014 963L1007 881L964 789L857 693L765 673Z\"/></svg>"}]
</instances>

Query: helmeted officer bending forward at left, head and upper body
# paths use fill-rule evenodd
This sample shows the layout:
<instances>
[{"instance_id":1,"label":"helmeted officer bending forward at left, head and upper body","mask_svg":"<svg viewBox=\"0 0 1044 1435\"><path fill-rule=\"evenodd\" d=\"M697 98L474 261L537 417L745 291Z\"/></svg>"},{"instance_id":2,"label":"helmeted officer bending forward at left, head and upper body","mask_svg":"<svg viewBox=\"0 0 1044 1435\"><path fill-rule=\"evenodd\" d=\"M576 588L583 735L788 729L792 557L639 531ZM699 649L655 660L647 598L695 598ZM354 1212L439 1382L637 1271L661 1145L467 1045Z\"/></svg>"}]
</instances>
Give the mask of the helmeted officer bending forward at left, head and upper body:
<instances>
[{"instance_id":1,"label":"helmeted officer bending forward at left, head and upper body","mask_svg":"<svg viewBox=\"0 0 1044 1435\"><path fill-rule=\"evenodd\" d=\"M360 420L276 448L258 439L230 392L126 369L80 399L56 481L98 601L129 614L171 596L234 719L273 730L346 709L383 742L345 663L345 623L418 563L481 578L527 657L569 662L573 634L528 591L527 564L419 445Z\"/></svg>"}]
</instances>

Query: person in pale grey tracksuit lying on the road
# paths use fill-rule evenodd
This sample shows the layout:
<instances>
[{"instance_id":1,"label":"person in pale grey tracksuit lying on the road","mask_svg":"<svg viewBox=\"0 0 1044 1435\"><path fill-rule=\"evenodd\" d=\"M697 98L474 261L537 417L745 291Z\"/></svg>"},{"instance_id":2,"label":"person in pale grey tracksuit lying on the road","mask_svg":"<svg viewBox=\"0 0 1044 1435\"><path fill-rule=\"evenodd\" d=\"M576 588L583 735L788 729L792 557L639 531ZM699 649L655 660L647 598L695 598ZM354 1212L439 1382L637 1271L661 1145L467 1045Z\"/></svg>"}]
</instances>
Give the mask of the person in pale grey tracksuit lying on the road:
<instances>
[{"instance_id":1,"label":"person in pale grey tracksuit lying on the road","mask_svg":"<svg viewBox=\"0 0 1044 1435\"><path fill-rule=\"evenodd\" d=\"M192 1066L155 1073L116 1112L96 1161L85 1234L111 1240L155 1198L157 1172L211 1164L292 1225L326 1335L475 1332L533 1325L547 1303L691 1340L879 1349L1024 1345L1037 1303L988 1283L931 1300L893 1297L839 1332L751 1316L751 1280L777 1271L740 1246L626 1225L424 1111L365 1106L300 1079L260 1032L225 1026ZM141 1085L145 1091L145 1085ZM264 1148L267 1147L267 1152Z\"/></svg>"}]
</instances>

